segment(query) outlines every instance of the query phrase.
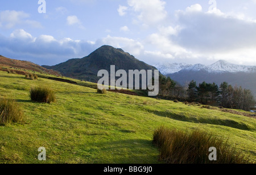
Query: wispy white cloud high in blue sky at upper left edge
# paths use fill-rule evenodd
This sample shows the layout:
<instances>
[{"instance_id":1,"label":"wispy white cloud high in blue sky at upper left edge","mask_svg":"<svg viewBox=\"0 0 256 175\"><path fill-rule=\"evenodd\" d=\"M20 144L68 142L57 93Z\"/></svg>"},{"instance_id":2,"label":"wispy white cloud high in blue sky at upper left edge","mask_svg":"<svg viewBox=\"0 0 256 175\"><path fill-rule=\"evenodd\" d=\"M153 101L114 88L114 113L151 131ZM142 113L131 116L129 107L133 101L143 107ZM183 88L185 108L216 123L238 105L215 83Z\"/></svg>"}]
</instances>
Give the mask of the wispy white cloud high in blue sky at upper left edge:
<instances>
[{"instance_id":1,"label":"wispy white cloud high in blue sky at upper left edge","mask_svg":"<svg viewBox=\"0 0 256 175\"><path fill-rule=\"evenodd\" d=\"M26 24L31 27L40 28L42 27L39 22L35 20L28 20L30 15L23 11L5 10L0 12L0 27L10 29L16 25Z\"/></svg>"}]
</instances>

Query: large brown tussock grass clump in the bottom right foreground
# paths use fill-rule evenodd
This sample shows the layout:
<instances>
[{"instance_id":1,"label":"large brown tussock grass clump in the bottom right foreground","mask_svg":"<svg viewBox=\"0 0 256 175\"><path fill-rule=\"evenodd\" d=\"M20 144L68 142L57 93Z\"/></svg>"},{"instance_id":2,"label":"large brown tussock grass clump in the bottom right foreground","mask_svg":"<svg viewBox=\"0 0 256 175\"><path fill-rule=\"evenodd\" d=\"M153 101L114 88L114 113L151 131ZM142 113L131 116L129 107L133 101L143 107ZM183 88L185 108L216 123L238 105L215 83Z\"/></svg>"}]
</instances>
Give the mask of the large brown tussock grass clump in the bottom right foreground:
<instances>
[{"instance_id":1,"label":"large brown tussock grass clump in the bottom right foreground","mask_svg":"<svg viewBox=\"0 0 256 175\"><path fill-rule=\"evenodd\" d=\"M228 145L228 140L216 138L204 131L192 133L159 127L153 143L160 148L160 160L169 164L246 164L253 163L249 156ZM217 149L217 160L209 160L209 148Z\"/></svg>"}]
</instances>

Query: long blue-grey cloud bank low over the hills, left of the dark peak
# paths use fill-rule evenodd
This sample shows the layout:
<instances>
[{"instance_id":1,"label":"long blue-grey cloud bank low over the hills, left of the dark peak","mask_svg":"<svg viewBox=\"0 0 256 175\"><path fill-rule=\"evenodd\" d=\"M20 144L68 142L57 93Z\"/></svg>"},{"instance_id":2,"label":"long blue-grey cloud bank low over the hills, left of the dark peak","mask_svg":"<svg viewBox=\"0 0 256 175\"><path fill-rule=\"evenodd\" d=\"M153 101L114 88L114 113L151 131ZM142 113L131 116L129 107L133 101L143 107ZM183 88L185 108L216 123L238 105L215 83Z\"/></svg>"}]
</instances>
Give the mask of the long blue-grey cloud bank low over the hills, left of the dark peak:
<instances>
[{"instance_id":1,"label":"long blue-grey cloud bank low over the hills, left of the dark peak","mask_svg":"<svg viewBox=\"0 0 256 175\"><path fill-rule=\"evenodd\" d=\"M74 57L81 58L87 56L94 49L96 46L92 41L72 40L70 38L56 40L49 35L33 37L24 29L15 30L10 34L10 37L0 35L1 54L44 65L55 65Z\"/></svg>"}]
</instances>

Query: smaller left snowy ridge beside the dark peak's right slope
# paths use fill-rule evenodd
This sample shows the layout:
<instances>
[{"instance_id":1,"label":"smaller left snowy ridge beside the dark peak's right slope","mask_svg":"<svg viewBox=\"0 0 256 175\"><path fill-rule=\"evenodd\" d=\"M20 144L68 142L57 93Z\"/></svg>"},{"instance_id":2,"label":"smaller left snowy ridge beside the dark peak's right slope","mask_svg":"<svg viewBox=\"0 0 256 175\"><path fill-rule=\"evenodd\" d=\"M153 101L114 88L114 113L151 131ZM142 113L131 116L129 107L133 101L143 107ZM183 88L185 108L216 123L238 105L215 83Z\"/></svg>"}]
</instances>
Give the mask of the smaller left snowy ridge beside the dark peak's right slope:
<instances>
[{"instance_id":1,"label":"smaller left snowy ridge beside the dark peak's right slope","mask_svg":"<svg viewBox=\"0 0 256 175\"><path fill-rule=\"evenodd\" d=\"M158 63L154 65L156 69L158 69L163 75L173 74L175 72L179 72L182 69L186 69L191 67L192 65L188 65L187 63Z\"/></svg>"}]
</instances>

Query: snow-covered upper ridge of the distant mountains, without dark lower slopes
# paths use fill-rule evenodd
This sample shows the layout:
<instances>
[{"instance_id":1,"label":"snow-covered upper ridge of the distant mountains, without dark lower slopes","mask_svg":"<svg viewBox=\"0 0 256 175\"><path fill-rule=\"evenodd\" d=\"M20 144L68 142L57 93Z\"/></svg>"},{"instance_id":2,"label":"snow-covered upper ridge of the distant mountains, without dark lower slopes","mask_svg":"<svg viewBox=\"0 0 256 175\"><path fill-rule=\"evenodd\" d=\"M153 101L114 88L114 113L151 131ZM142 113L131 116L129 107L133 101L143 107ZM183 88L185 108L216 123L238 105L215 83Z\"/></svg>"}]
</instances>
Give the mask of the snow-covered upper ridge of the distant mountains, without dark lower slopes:
<instances>
[{"instance_id":1,"label":"snow-covered upper ridge of the distant mountains, without dark lower slopes","mask_svg":"<svg viewBox=\"0 0 256 175\"><path fill-rule=\"evenodd\" d=\"M217 61L212 65L202 64L188 65L186 63L163 63L155 65L162 74L173 74L179 71L207 71L207 72L256 72L256 66L235 65L224 60Z\"/></svg>"}]
</instances>

